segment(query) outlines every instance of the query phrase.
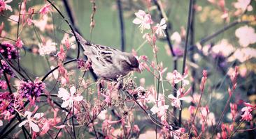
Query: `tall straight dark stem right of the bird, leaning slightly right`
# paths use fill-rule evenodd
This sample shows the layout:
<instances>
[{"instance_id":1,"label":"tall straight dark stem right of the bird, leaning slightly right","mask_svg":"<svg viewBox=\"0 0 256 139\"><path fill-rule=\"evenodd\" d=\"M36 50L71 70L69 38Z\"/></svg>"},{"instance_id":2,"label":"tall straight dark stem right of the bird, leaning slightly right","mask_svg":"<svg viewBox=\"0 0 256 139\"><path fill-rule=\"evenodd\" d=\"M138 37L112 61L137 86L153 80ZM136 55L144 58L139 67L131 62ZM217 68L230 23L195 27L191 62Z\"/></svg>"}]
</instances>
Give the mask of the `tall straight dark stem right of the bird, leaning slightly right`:
<instances>
[{"instance_id":1,"label":"tall straight dark stem right of the bird, leaning slightly right","mask_svg":"<svg viewBox=\"0 0 256 139\"><path fill-rule=\"evenodd\" d=\"M188 37L190 35L192 3L193 3L193 0L190 0L190 6L189 6L189 10L188 10L188 17L187 17L187 31L186 31L185 49L184 49L184 56L183 56L183 74L185 72L185 65L186 65ZM182 82L181 82L181 88L183 88ZM182 105L182 101L180 101L180 103ZM178 125L179 126L181 126L181 122L182 122L181 113L182 113L182 106L181 106L180 113L179 113L179 118L178 118Z\"/></svg>"}]
</instances>

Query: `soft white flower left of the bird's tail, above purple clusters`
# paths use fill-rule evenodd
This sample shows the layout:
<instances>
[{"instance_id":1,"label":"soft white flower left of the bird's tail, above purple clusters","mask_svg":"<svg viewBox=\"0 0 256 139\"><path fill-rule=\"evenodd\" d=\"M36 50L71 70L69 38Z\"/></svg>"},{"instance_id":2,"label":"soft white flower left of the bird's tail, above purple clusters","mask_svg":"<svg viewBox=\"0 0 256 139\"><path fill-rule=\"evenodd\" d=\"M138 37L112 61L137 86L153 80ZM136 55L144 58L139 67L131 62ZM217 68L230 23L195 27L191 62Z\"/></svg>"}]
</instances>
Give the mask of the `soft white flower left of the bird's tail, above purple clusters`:
<instances>
[{"instance_id":1,"label":"soft white flower left of the bird's tail, above purple clusters","mask_svg":"<svg viewBox=\"0 0 256 139\"><path fill-rule=\"evenodd\" d=\"M52 40L47 40L45 44L38 44L39 54L44 56L45 54L51 54L56 51L56 43Z\"/></svg>"}]
</instances>

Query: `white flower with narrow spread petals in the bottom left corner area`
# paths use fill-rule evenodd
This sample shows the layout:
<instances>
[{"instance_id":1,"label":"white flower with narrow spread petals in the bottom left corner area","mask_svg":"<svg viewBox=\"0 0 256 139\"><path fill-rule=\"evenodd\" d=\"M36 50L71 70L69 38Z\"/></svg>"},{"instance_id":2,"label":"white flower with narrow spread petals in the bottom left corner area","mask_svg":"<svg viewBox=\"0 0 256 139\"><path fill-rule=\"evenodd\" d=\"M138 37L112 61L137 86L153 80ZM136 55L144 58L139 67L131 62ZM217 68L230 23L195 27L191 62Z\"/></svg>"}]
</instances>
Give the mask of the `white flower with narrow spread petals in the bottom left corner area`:
<instances>
[{"instance_id":1,"label":"white flower with narrow spread petals in the bottom left corner area","mask_svg":"<svg viewBox=\"0 0 256 139\"><path fill-rule=\"evenodd\" d=\"M24 126L24 124L26 124L27 122L29 122L29 127L30 127L30 130L32 129L33 131L35 132L39 132L40 129L38 127L38 125L35 123L35 119L40 119L41 117L43 117L43 113L36 113L34 115L34 117L31 117L32 113L30 111L26 111L24 113L24 116L27 116L27 120L24 120L23 122L21 122L19 124L19 127L21 126Z\"/></svg>"}]
</instances>

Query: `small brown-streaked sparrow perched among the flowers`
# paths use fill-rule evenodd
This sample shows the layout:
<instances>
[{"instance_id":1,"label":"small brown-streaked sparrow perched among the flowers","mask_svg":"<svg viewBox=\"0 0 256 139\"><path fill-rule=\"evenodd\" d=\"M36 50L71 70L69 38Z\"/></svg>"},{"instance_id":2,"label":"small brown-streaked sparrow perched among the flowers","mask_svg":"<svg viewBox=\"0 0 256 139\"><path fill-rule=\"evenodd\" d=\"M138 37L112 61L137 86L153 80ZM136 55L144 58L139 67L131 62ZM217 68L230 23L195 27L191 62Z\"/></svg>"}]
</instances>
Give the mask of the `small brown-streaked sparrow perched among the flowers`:
<instances>
[{"instance_id":1,"label":"small brown-streaked sparrow perched among the flowers","mask_svg":"<svg viewBox=\"0 0 256 139\"><path fill-rule=\"evenodd\" d=\"M74 33L83 47L83 54L91 61L92 70L99 78L113 81L131 71L141 72L138 59L133 54L101 44L92 44L76 31Z\"/></svg>"}]
</instances>

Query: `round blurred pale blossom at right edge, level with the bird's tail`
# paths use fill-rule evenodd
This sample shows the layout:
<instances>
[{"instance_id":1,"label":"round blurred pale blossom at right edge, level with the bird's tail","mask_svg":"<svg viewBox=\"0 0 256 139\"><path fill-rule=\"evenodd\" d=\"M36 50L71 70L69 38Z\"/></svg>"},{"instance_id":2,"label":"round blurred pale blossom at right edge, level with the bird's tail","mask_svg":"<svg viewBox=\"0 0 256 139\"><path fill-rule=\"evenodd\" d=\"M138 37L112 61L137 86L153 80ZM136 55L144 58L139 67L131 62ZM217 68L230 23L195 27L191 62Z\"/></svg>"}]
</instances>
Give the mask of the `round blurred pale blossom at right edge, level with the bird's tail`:
<instances>
[{"instance_id":1,"label":"round blurred pale blossom at right edge, level with the bird's tail","mask_svg":"<svg viewBox=\"0 0 256 139\"><path fill-rule=\"evenodd\" d=\"M248 47L249 44L256 42L256 33L254 28L250 26L241 26L236 29L236 37L239 38L239 44L242 47Z\"/></svg>"}]
</instances>

